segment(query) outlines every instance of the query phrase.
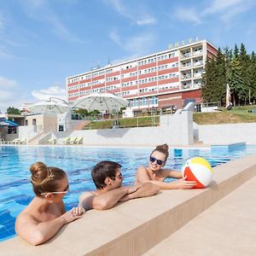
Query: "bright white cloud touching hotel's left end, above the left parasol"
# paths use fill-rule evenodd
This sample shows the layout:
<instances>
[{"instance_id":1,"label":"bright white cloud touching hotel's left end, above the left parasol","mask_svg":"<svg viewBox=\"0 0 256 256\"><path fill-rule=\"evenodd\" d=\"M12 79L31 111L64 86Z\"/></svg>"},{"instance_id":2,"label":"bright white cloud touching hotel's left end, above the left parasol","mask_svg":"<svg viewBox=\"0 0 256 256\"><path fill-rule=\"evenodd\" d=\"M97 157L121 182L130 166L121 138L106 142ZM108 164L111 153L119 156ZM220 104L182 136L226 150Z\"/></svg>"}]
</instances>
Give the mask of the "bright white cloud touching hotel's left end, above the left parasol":
<instances>
[{"instance_id":1,"label":"bright white cloud touching hotel's left end, above the left parasol","mask_svg":"<svg viewBox=\"0 0 256 256\"><path fill-rule=\"evenodd\" d=\"M57 97L62 100L67 100L66 90L55 84L47 89L32 90L32 96L40 101L49 101L50 97Z\"/></svg>"}]
</instances>

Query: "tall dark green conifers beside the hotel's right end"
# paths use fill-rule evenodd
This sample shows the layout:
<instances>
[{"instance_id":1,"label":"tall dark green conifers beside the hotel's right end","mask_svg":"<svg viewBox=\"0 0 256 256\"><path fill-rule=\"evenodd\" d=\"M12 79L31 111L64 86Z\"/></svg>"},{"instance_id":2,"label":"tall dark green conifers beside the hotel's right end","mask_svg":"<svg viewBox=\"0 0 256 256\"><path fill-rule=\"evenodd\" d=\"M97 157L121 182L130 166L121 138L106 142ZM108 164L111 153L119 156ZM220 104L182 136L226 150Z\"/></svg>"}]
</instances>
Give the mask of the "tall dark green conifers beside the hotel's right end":
<instances>
[{"instance_id":1,"label":"tall dark green conifers beside the hotel's right end","mask_svg":"<svg viewBox=\"0 0 256 256\"><path fill-rule=\"evenodd\" d=\"M204 102L221 102L225 105L226 84L230 85L233 106L255 104L256 100L256 56L247 54L244 44L240 49L228 47L218 49L214 60L207 59L202 78Z\"/></svg>"}]
</instances>

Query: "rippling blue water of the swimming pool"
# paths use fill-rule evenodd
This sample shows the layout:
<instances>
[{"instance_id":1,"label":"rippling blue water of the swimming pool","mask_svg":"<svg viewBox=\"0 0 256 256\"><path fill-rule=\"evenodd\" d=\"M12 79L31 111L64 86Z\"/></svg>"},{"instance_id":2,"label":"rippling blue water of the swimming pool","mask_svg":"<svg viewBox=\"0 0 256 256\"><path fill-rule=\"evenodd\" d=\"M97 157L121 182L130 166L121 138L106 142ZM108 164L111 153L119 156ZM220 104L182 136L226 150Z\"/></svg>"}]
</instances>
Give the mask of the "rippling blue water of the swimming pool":
<instances>
[{"instance_id":1,"label":"rippling blue water of the swimming pool","mask_svg":"<svg viewBox=\"0 0 256 256\"><path fill-rule=\"evenodd\" d=\"M70 190L64 201L67 209L77 206L84 190L95 189L90 171L101 160L122 165L124 184L132 184L137 167L147 165L153 148L85 148L85 147L19 147L0 146L0 241L15 236L15 218L32 201L29 166L43 161L67 172ZM218 150L207 148L171 148L166 167L180 170L192 156L206 158L212 166L256 153L255 146Z\"/></svg>"}]
</instances>

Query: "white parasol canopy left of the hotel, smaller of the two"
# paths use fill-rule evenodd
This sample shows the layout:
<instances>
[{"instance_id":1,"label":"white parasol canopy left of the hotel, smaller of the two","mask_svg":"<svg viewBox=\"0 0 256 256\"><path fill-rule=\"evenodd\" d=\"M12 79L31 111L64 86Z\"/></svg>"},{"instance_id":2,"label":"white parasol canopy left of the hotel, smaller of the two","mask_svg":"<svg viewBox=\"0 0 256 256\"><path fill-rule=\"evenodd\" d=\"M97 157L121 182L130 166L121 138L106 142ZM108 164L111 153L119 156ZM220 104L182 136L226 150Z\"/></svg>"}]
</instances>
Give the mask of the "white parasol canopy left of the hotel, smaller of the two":
<instances>
[{"instance_id":1,"label":"white parasol canopy left of the hotel, smaller of the two","mask_svg":"<svg viewBox=\"0 0 256 256\"><path fill-rule=\"evenodd\" d=\"M57 114L67 112L70 106L65 102L51 100L28 105L26 109L31 113Z\"/></svg>"}]
</instances>

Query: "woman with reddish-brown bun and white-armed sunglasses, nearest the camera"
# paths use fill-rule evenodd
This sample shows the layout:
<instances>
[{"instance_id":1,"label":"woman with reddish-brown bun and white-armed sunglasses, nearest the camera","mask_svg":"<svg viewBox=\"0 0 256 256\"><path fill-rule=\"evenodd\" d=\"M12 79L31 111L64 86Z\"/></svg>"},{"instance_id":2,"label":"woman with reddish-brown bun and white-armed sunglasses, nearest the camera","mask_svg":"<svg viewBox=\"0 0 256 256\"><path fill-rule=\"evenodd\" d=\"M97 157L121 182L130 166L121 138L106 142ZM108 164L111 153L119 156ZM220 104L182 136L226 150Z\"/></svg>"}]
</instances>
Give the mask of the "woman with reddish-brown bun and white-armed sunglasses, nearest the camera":
<instances>
[{"instance_id":1,"label":"woman with reddish-brown bun and white-armed sunglasses, nearest the camera","mask_svg":"<svg viewBox=\"0 0 256 256\"><path fill-rule=\"evenodd\" d=\"M16 219L16 233L38 245L48 241L65 224L81 218L84 209L73 207L66 212L63 197L68 192L67 174L56 167L37 162L30 167L35 197Z\"/></svg>"}]
</instances>

